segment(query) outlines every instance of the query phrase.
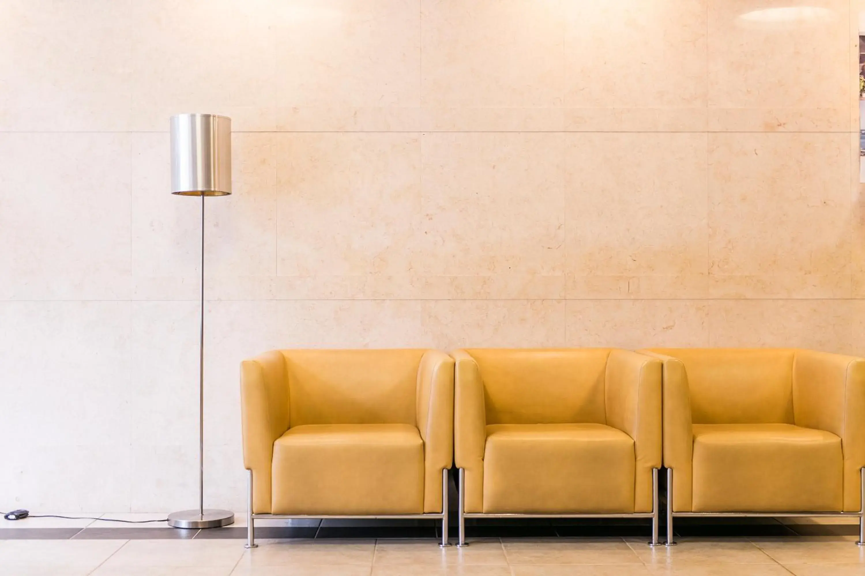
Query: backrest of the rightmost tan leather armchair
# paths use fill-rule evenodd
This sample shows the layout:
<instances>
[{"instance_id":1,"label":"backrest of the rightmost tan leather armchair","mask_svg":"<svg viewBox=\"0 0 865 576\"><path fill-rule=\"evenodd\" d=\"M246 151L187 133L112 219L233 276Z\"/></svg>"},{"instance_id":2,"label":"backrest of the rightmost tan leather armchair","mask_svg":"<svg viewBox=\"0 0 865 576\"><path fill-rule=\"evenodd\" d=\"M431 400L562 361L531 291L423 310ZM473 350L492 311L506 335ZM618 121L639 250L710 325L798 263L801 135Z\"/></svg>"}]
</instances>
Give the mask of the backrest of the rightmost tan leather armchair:
<instances>
[{"instance_id":1,"label":"backrest of the rightmost tan leather armchair","mask_svg":"<svg viewBox=\"0 0 865 576\"><path fill-rule=\"evenodd\" d=\"M695 424L792 424L795 350L652 348L685 366Z\"/></svg>"}]
</instances>

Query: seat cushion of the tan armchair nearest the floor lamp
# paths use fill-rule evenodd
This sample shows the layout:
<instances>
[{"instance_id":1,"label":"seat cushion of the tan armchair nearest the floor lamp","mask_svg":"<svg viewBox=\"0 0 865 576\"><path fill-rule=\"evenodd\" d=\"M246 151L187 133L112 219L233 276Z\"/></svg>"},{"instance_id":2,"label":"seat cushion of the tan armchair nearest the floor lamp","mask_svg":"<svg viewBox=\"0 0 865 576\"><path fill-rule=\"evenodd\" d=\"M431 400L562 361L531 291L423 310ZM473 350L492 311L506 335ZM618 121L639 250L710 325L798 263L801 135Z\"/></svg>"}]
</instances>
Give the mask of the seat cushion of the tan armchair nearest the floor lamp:
<instances>
[{"instance_id":1,"label":"seat cushion of the tan armchair nearest the floor lamp","mask_svg":"<svg viewBox=\"0 0 865 576\"><path fill-rule=\"evenodd\" d=\"M310 424L273 444L273 514L421 514L424 443L407 424Z\"/></svg>"}]
</instances>

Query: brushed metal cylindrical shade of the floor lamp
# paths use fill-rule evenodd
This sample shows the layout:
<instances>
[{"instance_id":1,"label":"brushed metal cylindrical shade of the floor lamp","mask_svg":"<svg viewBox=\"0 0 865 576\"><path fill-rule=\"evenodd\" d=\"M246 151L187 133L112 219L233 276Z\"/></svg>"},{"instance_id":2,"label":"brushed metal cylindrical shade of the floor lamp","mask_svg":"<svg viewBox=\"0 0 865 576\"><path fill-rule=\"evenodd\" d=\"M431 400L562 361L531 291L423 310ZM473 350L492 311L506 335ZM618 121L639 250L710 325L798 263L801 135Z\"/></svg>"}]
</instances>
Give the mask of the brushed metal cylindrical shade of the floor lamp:
<instances>
[{"instance_id":1,"label":"brushed metal cylindrical shade of the floor lamp","mask_svg":"<svg viewBox=\"0 0 865 576\"><path fill-rule=\"evenodd\" d=\"M171 193L231 193L231 118L216 114L171 117Z\"/></svg>"}]
</instances>

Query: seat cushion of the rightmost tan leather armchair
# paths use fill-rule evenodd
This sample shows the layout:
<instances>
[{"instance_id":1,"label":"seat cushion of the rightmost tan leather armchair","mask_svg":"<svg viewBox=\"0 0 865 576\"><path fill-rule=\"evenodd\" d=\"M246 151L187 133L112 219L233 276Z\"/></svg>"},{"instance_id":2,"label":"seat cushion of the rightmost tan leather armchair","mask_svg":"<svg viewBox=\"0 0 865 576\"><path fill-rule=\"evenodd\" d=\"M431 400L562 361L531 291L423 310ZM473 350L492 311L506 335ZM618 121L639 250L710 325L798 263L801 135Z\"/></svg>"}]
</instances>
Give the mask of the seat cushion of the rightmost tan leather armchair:
<instances>
[{"instance_id":1,"label":"seat cushion of the rightmost tan leather armchair","mask_svg":"<svg viewBox=\"0 0 865 576\"><path fill-rule=\"evenodd\" d=\"M838 512L841 439L792 424L695 424L695 512Z\"/></svg>"}]
</instances>

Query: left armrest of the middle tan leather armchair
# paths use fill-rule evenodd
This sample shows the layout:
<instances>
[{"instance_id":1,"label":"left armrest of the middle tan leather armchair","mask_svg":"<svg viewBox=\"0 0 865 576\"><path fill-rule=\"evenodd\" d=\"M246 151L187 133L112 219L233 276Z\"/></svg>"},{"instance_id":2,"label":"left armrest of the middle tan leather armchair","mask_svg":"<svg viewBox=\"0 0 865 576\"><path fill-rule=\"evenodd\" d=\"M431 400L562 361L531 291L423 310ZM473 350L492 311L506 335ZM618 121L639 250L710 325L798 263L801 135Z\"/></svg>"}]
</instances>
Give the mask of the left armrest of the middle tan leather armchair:
<instances>
[{"instance_id":1,"label":"left armrest of the middle tan leather armchair","mask_svg":"<svg viewBox=\"0 0 865 576\"><path fill-rule=\"evenodd\" d=\"M486 407L484 382L477 362L464 350L451 353L456 361L453 400L453 453L465 469L465 511L484 511L484 447Z\"/></svg>"}]
</instances>

